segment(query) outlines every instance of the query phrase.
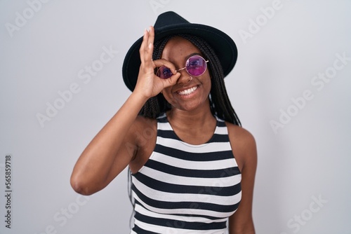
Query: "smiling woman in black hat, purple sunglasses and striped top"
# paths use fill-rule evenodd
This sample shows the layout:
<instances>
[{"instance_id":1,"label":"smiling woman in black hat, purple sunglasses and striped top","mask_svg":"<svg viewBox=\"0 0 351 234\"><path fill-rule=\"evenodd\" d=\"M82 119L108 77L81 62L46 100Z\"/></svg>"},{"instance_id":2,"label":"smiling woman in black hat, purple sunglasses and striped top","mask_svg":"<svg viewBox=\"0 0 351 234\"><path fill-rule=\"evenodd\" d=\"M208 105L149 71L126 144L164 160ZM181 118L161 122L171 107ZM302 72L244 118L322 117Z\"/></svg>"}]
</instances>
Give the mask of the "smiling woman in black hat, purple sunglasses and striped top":
<instances>
[{"instance_id":1,"label":"smiling woman in black hat, purple sunglasses and striped top","mask_svg":"<svg viewBox=\"0 0 351 234\"><path fill-rule=\"evenodd\" d=\"M96 193L128 166L131 233L225 233L227 220L230 234L255 233L256 143L223 81L236 60L227 34L159 15L128 50L133 92L79 157L74 190Z\"/></svg>"}]
</instances>

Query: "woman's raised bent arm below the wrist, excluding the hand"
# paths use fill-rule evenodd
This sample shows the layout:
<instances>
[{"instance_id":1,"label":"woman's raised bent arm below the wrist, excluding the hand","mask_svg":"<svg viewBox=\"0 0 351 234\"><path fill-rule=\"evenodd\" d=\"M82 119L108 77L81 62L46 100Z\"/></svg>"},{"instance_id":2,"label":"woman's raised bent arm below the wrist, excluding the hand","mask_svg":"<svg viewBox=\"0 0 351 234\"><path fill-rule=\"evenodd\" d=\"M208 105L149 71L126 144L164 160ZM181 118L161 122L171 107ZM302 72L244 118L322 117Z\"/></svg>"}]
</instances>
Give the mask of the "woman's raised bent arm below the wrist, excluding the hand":
<instances>
[{"instance_id":1,"label":"woman's raised bent arm below the wrist, excluding the hand","mask_svg":"<svg viewBox=\"0 0 351 234\"><path fill-rule=\"evenodd\" d=\"M74 191L84 195L100 191L128 165L137 149L131 126L144 102L143 98L132 94L84 149L70 180ZM121 147L127 142L134 144L133 152Z\"/></svg>"}]
</instances>

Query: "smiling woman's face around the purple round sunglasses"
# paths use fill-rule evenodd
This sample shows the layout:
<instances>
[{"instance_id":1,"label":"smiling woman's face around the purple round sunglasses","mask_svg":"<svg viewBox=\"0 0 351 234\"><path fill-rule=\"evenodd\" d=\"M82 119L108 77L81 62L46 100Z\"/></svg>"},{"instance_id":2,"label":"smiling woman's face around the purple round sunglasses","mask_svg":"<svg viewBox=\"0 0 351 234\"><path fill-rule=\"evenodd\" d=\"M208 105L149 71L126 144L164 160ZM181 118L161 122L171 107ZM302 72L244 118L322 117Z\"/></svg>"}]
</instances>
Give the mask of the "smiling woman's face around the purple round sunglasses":
<instances>
[{"instance_id":1,"label":"smiling woman's face around the purple round sunglasses","mask_svg":"<svg viewBox=\"0 0 351 234\"><path fill-rule=\"evenodd\" d=\"M185 62L192 55L201 55L201 52L190 41L176 36L166 43L161 58L172 62L176 69L181 69L185 67ZM190 74L187 74L185 69L179 72L181 75L176 85L162 90L167 102L172 108L183 111L194 111L201 107L208 108L208 94L211 90L208 69L201 76L192 76L191 81Z\"/></svg>"}]
</instances>

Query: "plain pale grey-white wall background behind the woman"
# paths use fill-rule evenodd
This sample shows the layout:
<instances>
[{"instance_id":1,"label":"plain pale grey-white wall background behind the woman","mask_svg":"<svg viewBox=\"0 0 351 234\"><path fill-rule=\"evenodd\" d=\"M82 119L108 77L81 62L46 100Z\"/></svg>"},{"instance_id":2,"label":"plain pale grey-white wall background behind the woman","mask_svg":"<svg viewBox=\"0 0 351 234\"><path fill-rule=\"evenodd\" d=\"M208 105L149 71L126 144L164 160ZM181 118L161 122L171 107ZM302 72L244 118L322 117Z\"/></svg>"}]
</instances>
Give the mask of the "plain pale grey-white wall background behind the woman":
<instances>
[{"instance_id":1,"label":"plain pale grey-white wall background behind the woman","mask_svg":"<svg viewBox=\"0 0 351 234\"><path fill-rule=\"evenodd\" d=\"M126 170L88 198L72 190L69 177L131 93L121 78L126 51L165 11L217 27L237 43L225 82L258 145L256 232L351 233L351 1L51 0L32 4L36 11L29 5L39 1L28 2L0 1L1 234L129 232ZM79 78L98 66L103 48L114 51L110 62L90 80ZM326 73L327 82L314 78ZM72 85L76 93L62 102L59 92ZM51 117L50 104L60 107ZM275 132L272 121L282 122ZM11 229L4 217L8 153Z\"/></svg>"}]
</instances>

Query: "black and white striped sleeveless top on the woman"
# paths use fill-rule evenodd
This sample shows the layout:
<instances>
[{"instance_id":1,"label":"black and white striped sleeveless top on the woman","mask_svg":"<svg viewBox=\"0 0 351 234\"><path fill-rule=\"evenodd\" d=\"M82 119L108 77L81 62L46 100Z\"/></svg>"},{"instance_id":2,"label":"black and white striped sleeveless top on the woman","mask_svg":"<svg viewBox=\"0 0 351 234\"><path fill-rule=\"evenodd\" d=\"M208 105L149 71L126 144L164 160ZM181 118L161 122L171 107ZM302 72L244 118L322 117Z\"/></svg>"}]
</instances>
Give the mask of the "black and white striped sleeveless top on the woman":
<instances>
[{"instance_id":1,"label":"black and white striped sleeveless top on the woman","mask_svg":"<svg viewBox=\"0 0 351 234\"><path fill-rule=\"evenodd\" d=\"M206 144L183 142L164 113L147 163L132 175L135 200L131 233L226 232L241 200L241 172L225 122L217 119Z\"/></svg>"}]
</instances>

